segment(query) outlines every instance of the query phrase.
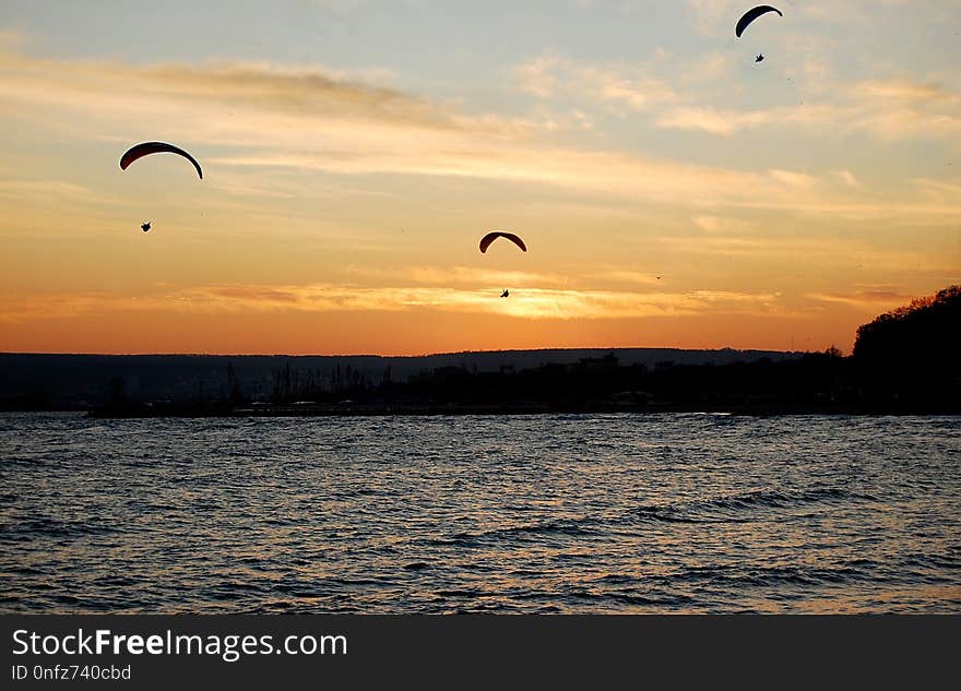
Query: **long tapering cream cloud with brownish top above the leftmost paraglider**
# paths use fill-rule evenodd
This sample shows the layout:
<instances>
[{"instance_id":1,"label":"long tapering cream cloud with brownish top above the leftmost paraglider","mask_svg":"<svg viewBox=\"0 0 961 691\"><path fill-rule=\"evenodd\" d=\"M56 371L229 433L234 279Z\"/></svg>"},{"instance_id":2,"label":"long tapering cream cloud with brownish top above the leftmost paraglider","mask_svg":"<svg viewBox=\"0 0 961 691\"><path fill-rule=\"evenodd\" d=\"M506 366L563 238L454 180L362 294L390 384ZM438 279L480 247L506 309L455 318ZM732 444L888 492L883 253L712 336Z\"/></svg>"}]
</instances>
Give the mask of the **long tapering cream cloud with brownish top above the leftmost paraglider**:
<instances>
[{"instance_id":1,"label":"long tapering cream cloud with brownish top above the leftmost paraglider","mask_svg":"<svg viewBox=\"0 0 961 691\"><path fill-rule=\"evenodd\" d=\"M226 107L226 111L213 110L213 119L239 111L293 119L363 119L427 130L496 131L498 127L490 118L470 121L398 90L364 84L344 73L317 67L254 62L137 67L8 55L0 60L0 74L4 76L0 94L7 97L62 105L110 120L150 115L156 108L197 115L203 112L206 104Z\"/></svg>"}]
</instances>

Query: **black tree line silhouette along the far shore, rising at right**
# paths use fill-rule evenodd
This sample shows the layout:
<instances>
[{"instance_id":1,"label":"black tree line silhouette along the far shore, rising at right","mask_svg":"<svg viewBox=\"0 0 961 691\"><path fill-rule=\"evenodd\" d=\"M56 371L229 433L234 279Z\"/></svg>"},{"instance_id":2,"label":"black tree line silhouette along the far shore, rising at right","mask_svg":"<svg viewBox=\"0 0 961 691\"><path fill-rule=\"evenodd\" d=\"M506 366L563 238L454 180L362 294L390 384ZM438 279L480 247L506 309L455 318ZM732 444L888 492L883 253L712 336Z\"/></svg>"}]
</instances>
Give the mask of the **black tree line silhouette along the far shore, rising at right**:
<instances>
[{"instance_id":1,"label":"black tree line silhouette along the far shore, rising at right","mask_svg":"<svg viewBox=\"0 0 961 691\"><path fill-rule=\"evenodd\" d=\"M621 365L614 354L572 364L478 372L437 367L394 381L349 367L330 373L287 362L256 401L228 365L227 395L181 406L133 406L120 391L100 414L322 415L729 410L752 413L961 413L961 286L912 301L857 330L853 354L727 365Z\"/></svg>"}]
</instances>

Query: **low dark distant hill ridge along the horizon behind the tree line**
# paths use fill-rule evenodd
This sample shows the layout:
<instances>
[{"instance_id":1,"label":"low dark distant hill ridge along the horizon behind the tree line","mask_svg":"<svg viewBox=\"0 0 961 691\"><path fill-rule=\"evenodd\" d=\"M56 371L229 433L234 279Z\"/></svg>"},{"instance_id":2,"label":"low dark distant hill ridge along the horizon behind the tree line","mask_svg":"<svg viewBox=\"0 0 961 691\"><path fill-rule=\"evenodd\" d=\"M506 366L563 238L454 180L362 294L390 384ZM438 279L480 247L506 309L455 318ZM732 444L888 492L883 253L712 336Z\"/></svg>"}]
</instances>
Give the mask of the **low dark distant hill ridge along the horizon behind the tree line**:
<instances>
[{"instance_id":1,"label":"low dark distant hill ridge along the horizon behind the tree line","mask_svg":"<svg viewBox=\"0 0 961 691\"><path fill-rule=\"evenodd\" d=\"M775 350L595 348L465 352L420 357L285 355L41 355L0 354L0 407L86 408L122 393L131 401L223 400L232 392L269 400L280 390L337 390L405 383L444 368L472 373L518 372L613 354L624 366L656 370L797 359Z\"/></svg>"}]
</instances>

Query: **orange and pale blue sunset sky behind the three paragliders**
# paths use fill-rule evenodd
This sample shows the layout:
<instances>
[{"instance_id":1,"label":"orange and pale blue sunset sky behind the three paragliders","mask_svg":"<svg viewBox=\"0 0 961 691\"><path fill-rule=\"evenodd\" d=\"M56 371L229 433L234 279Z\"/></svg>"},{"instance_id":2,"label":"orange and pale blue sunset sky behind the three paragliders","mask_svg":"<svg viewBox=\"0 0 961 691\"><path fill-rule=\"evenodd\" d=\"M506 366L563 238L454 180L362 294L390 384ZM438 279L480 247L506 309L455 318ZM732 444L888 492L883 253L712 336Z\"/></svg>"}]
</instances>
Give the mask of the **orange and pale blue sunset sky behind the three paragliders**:
<instances>
[{"instance_id":1,"label":"orange and pale blue sunset sky behind the three paragliders","mask_svg":"<svg viewBox=\"0 0 961 691\"><path fill-rule=\"evenodd\" d=\"M850 352L961 281L961 2L775 4L4 0L0 350Z\"/></svg>"}]
</instances>

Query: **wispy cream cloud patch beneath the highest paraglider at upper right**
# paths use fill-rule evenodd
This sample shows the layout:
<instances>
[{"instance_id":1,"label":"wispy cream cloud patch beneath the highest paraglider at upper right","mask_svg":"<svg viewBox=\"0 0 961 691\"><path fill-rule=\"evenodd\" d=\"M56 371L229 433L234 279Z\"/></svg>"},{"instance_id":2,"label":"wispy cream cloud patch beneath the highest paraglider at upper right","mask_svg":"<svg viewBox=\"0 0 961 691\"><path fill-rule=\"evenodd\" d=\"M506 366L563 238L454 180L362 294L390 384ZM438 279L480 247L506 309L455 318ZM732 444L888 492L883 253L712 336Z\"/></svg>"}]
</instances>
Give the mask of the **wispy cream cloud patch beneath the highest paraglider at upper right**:
<instances>
[{"instance_id":1,"label":"wispy cream cloud patch beneath the highest paraglider at upper right","mask_svg":"<svg viewBox=\"0 0 961 691\"><path fill-rule=\"evenodd\" d=\"M744 10L727 0L690 0L690 4L698 26L715 32L723 24L727 34L733 34L734 21ZM823 9L834 12L832 7ZM866 4L858 10L863 11ZM812 15L820 16L818 12ZM513 78L519 90L556 102L558 107L577 104L588 116L642 116L645 123L661 129L725 138L770 129L834 139L852 134L882 141L959 139L957 82L905 76L894 70L883 70L880 78L857 79L850 72L842 78L823 41L809 29L782 40L784 52L794 58L790 68L774 68L786 71L781 86L768 92L781 103L769 107L731 105L736 100L731 94L743 90L745 82L731 55L716 50L669 61L655 55L631 64L546 52L514 68Z\"/></svg>"}]
</instances>

